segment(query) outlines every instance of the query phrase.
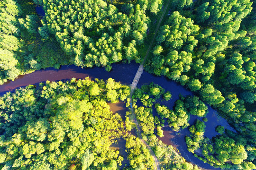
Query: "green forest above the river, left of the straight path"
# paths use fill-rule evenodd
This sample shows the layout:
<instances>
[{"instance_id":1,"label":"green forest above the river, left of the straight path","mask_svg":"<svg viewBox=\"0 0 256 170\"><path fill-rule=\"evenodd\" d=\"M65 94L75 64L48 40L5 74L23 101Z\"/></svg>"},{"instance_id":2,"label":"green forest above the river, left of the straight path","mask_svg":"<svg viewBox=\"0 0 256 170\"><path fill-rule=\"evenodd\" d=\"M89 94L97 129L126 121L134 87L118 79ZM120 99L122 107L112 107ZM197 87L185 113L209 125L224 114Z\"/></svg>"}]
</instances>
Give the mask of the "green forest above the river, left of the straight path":
<instances>
[{"instance_id":1,"label":"green forest above the river, left of the straight path","mask_svg":"<svg viewBox=\"0 0 256 170\"><path fill-rule=\"evenodd\" d=\"M0 1L0 84L20 74L75 64L103 66L140 62L150 22L161 0ZM36 6L42 5L45 17Z\"/></svg>"}]
</instances>

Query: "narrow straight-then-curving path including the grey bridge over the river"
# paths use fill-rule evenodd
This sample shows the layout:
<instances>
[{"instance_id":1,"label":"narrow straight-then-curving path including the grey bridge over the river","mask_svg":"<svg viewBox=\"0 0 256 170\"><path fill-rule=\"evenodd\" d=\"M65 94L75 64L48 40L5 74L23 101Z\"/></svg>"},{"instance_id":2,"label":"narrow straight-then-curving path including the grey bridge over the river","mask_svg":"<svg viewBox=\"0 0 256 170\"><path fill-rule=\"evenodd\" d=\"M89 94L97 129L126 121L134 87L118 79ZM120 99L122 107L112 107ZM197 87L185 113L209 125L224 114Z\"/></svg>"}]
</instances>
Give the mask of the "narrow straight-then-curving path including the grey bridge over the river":
<instances>
[{"instance_id":1,"label":"narrow straight-then-curving path including the grey bridge over the river","mask_svg":"<svg viewBox=\"0 0 256 170\"><path fill-rule=\"evenodd\" d=\"M142 74L142 72L143 72L143 70L144 70L144 63L145 63L146 58L147 58L147 56L148 56L148 54L149 54L149 52L150 52L150 50L151 50L151 47L152 47L152 45L153 45L153 42L155 41L155 36L156 36L156 34L157 34L157 32L158 32L158 29L159 29L159 27L160 27L160 24L161 24L161 22L162 22L162 20L163 20L163 18L164 18L164 16L165 16L165 13L166 13L167 8L168 8L168 6L169 6L169 4L170 4L170 1L171 1L171 0L168 0L167 4L165 5L165 9L163 10L162 16L161 16L161 18L159 19L158 24L157 24L157 26L156 26L156 28L155 28L154 37L153 37L153 39L152 39L152 41L151 41L151 43L150 43L150 45L149 45L149 47L148 47L148 49L147 49L147 51L146 51L146 55L145 55L145 57L144 57L144 59L143 59L143 62L139 65L139 68L138 68L138 70L137 70L137 73L136 73L136 75L134 76L134 79L133 79L133 81L132 81L132 84L131 84L131 91L130 91L130 101L132 101L132 94L133 94L133 92L134 92L134 90L135 90L135 88L136 88L136 86L137 86L137 83L138 83L138 81L139 81L139 78L140 78L140 76L141 76L141 74ZM135 116L135 113L134 113L134 108L131 108L131 112L132 112L132 117L133 117L134 123L135 123L136 126L137 126L137 132L138 132L138 136L139 136L140 140L142 141L143 144L146 145L146 147L148 148L149 152L150 152L151 155L153 156L153 158L154 158L154 160L155 160L156 170L161 170L161 169L160 169L160 166L159 166L159 161L157 160L157 158L156 158L156 156L155 156L155 153L152 151L152 149L151 149L150 146L146 143L146 141L142 139L142 136L141 136L141 128L140 128L139 125L138 125L138 121L137 121L136 116Z\"/></svg>"}]
</instances>

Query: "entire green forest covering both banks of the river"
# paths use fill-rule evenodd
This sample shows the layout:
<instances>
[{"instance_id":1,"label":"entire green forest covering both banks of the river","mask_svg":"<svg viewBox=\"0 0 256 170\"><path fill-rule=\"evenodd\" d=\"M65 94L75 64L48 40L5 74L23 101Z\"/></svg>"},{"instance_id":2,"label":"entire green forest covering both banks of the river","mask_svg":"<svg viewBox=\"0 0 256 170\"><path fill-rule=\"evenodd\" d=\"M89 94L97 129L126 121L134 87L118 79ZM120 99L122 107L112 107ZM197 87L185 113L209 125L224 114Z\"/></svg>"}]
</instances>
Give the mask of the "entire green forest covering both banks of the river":
<instances>
[{"instance_id":1,"label":"entire green forest covering both banks of the river","mask_svg":"<svg viewBox=\"0 0 256 170\"><path fill-rule=\"evenodd\" d=\"M112 117L106 101L120 100L132 102L142 137L163 169L197 169L158 140L166 124L177 133L188 128L188 151L211 166L256 169L255 0L1 0L0 85L49 67L110 71L113 63L142 63L167 4L144 67L195 95L180 96L168 108L161 101L172 94L151 83L129 101L129 87L111 78L47 81L7 93L0 99L0 168L118 169L123 157L110 145L122 137L126 169L153 169L149 151L129 134L131 113L127 120ZM219 135L204 136L208 105L235 132L218 126ZM198 116L193 125L191 115Z\"/></svg>"}]
</instances>

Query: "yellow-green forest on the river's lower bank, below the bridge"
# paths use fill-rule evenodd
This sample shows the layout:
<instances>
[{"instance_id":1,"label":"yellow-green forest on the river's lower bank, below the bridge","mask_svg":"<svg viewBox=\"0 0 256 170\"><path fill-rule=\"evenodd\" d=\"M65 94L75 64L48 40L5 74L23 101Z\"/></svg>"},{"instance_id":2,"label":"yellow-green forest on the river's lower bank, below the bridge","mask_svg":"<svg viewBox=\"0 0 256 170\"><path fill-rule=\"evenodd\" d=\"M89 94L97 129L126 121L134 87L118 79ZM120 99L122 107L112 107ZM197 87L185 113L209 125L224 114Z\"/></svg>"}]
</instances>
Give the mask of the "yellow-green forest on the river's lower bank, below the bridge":
<instances>
[{"instance_id":1,"label":"yellow-green forest on the river's lower bank, below the bridge","mask_svg":"<svg viewBox=\"0 0 256 170\"><path fill-rule=\"evenodd\" d=\"M116 170L122 165L123 157L110 146L123 137L129 160L129 167L125 169L154 169L154 161L146 146L129 133L134 127L129 119L130 113L127 112L124 122L118 113L110 111L106 102L127 101L129 107L128 95L129 87L114 82L112 78L104 82L92 81L88 77L84 80L73 78L64 83L47 81L37 88L28 85L15 93L4 94L0 97L1 167L17 170L85 170L89 167ZM198 170L157 136L164 136L161 128L165 122L177 131L189 126L190 115L203 117L208 108L197 96L180 96L173 110L159 104L169 101L171 96L153 82L136 89L132 103L143 132L142 138L153 148L165 170ZM142 106L137 106L137 102ZM153 116L152 106L157 116ZM221 126L216 127L220 135L208 139L203 136L204 128L204 123L198 120L189 127L191 134L186 136L190 152L201 149L201 153L195 156L221 168L256 168L249 161L254 158L254 149L239 143L245 142L244 139L229 130L223 133L225 129Z\"/></svg>"}]
</instances>

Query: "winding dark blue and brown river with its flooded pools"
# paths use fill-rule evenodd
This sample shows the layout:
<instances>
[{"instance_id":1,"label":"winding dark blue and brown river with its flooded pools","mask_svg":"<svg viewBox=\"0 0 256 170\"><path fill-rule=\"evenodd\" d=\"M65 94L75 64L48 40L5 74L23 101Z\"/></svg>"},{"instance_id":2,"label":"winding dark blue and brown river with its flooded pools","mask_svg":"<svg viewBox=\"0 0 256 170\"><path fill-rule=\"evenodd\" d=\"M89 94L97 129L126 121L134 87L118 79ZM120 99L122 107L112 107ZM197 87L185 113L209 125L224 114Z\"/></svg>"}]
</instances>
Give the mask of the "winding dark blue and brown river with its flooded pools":
<instances>
[{"instance_id":1,"label":"winding dark blue and brown river with its flooded pools","mask_svg":"<svg viewBox=\"0 0 256 170\"><path fill-rule=\"evenodd\" d=\"M62 66L60 69L47 68L45 70L38 70L27 75L18 76L18 78L15 79L15 81L9 81L4 85L0 85L0 95L3 95L9 91L14 91L19 87L25 87L27 85L39 85L39 83L46 82L46 80L66 81L70 80L73 77L77 79L83 79L84 77L89 76L92 79L99 78L103 80L107 80L108 78L112 77L115 79L115 81L120 81L122 84L130 85L137 72L138 66L139 65L135 62L132 62L131 64L112 64L112 70L110 72L107 72L105 68L80 68L74 65ZM171 109L174 106L174 102L179 99L179 94L182 94L183 96L193 95L192 92L188 91L182 85L179 85L174 81L166 79L164 76L154 76L145 71L142 73L137 86L140 87L144 83L150 83L152 81L158 85L161 85L163 88L172 93L172 99L170 101L161 103L165 104ZM118 112L119 114L121 114L121 117L124 118L125 111L127 110L125 104L119 102L118 104L110 104L110 107L113 112ZM212 136L217 135L217 132L215 132L215 127L217 125L222 125L229 130L233 130L225 119L220 118L217 115L216 110L213 110L210 106L208 106L208 110L209 113L207 114L206 117L208 118L209 121L205 123L206 137L211 138ZM155 110L153 110L153 112L153 114L155 114ZM196 121L197 118L198 117L192 115L189 123L193 124L193 122ZM187 161L192 162L193 164L197 164L199 167L206 170L216 169L210 166L209 164L204 163L203 161L200 161L199 159L195 158L192 153L189 153L187 151L185 136L186 134L189 133L188 128L179 131L179 133L172 131L170 127L163 127L163 130L165 136L159 139L162 140L165 144L172 144L173 146L175 146ZM121 145L125 145L124 141L120 140L119 143ZM120 147L120 144L113 147ZM121 149L120 153L125 154L124 149Z\"/></svg>"}]
</instances>

